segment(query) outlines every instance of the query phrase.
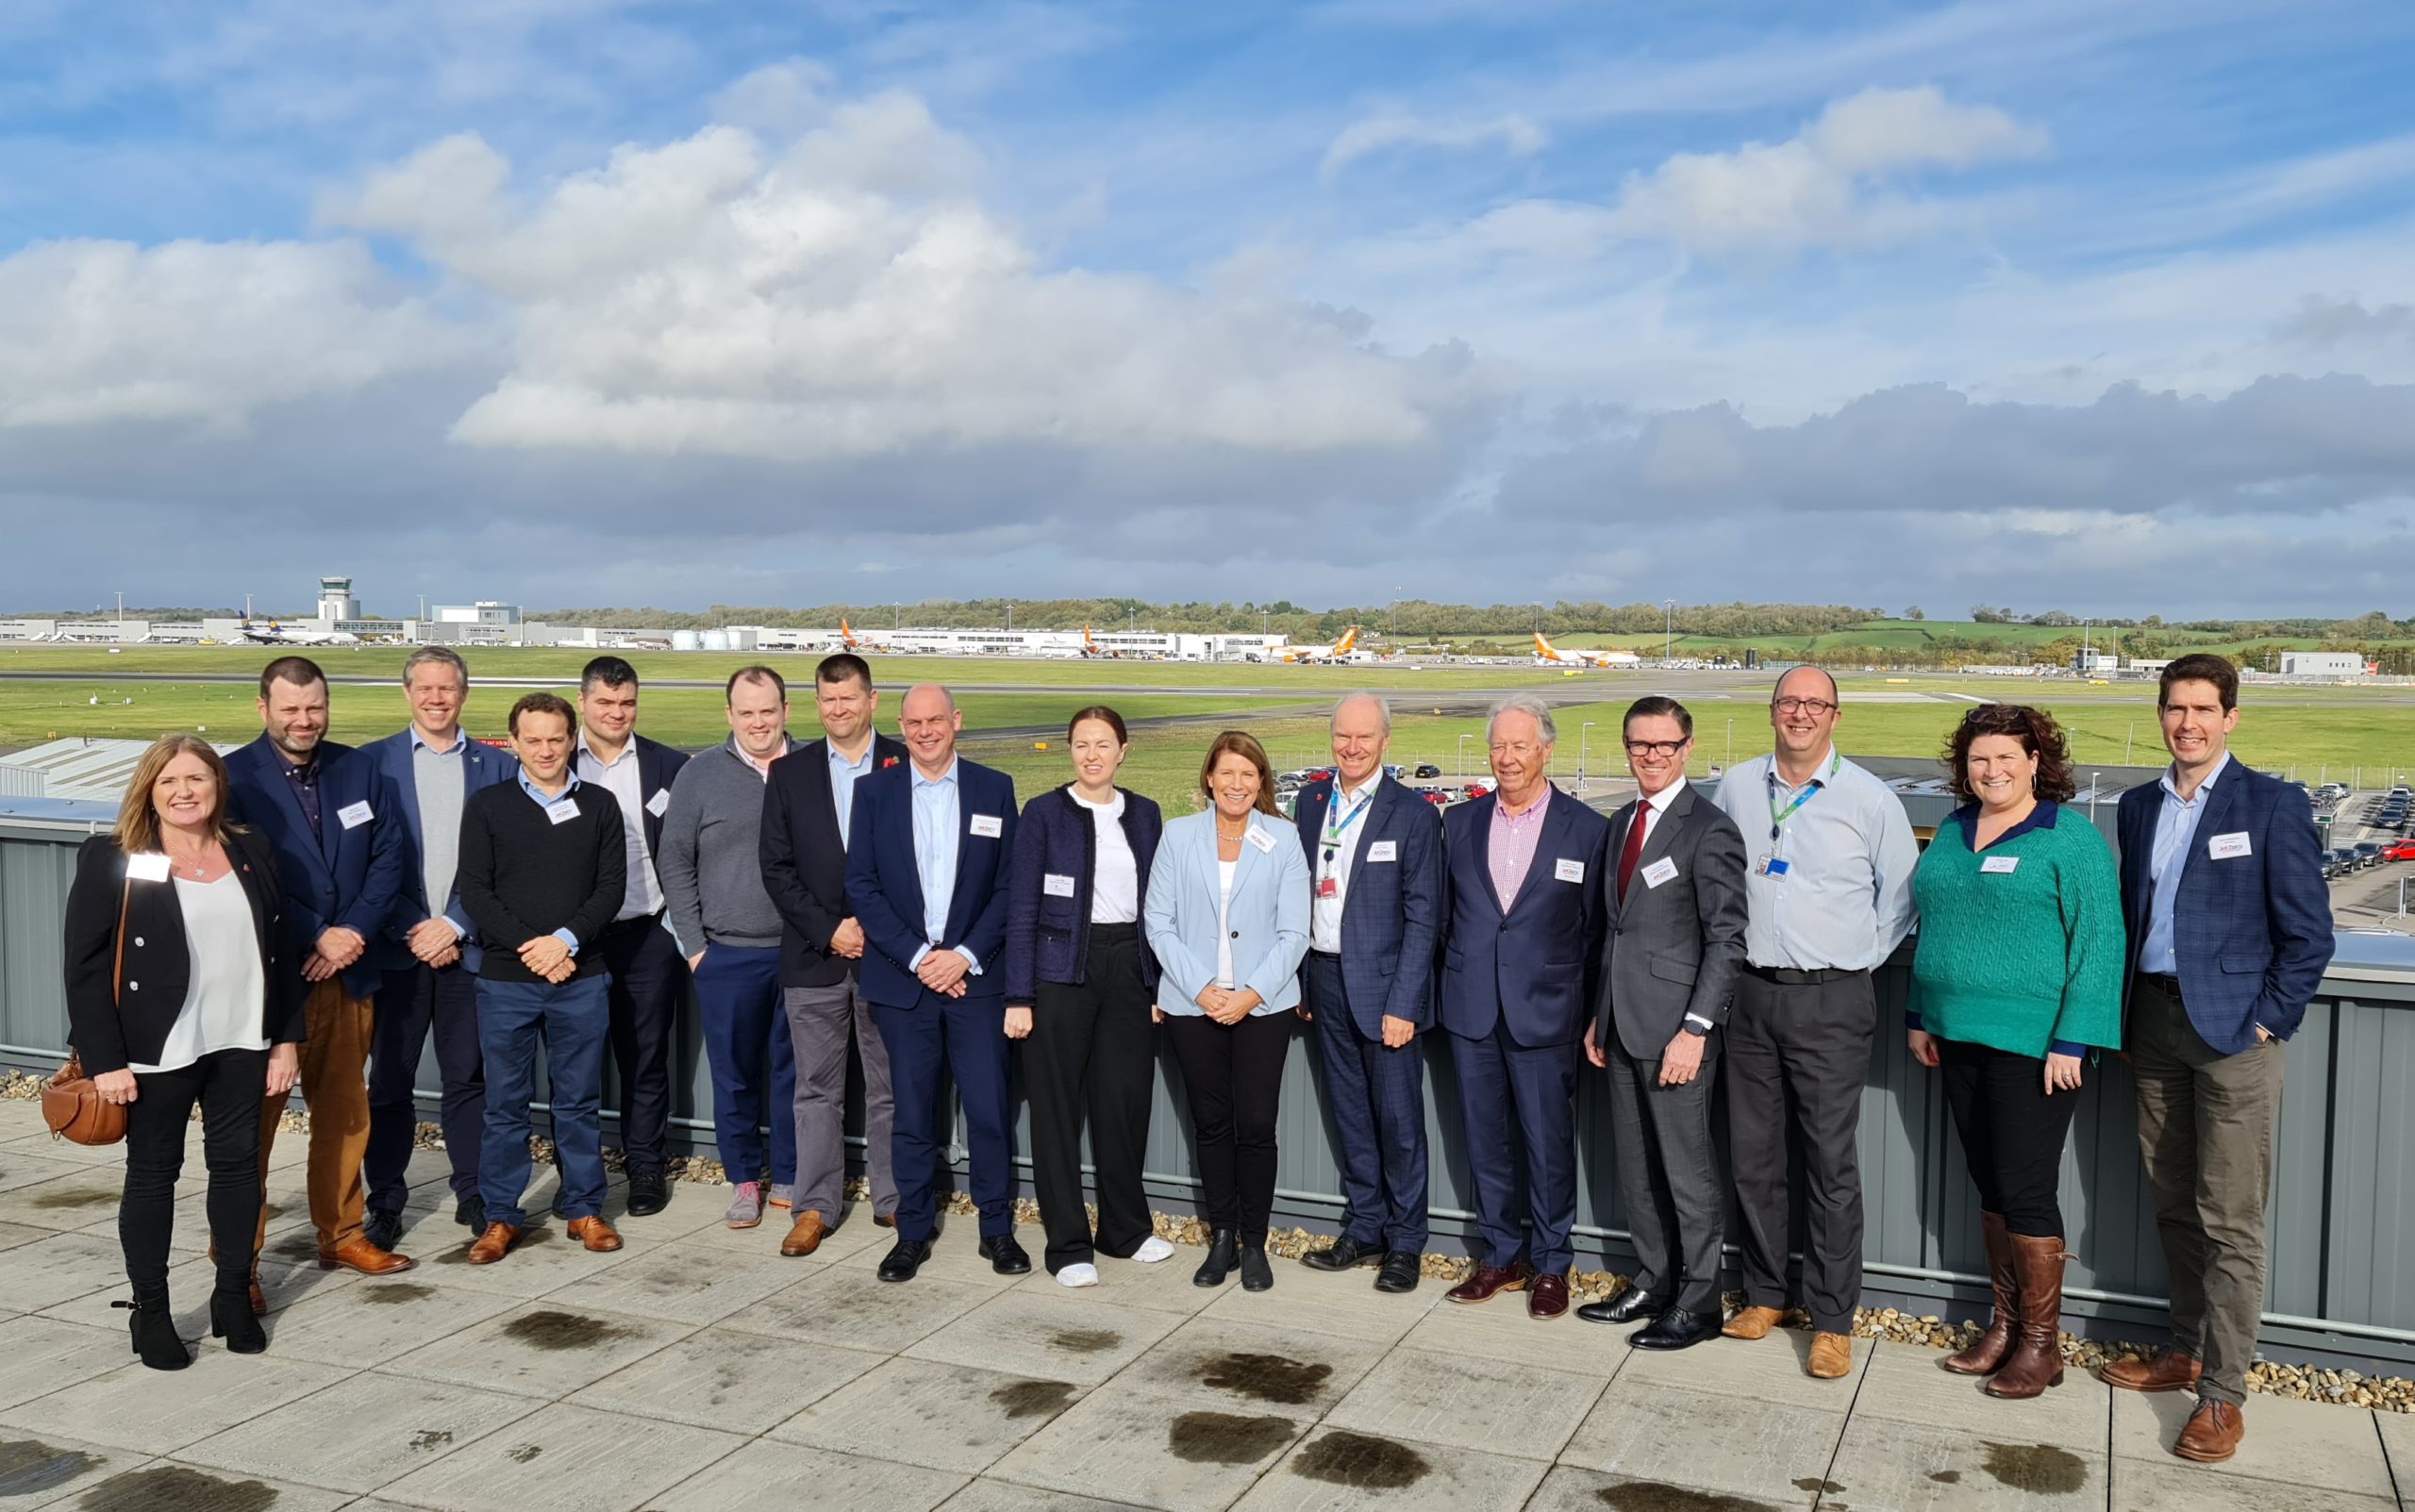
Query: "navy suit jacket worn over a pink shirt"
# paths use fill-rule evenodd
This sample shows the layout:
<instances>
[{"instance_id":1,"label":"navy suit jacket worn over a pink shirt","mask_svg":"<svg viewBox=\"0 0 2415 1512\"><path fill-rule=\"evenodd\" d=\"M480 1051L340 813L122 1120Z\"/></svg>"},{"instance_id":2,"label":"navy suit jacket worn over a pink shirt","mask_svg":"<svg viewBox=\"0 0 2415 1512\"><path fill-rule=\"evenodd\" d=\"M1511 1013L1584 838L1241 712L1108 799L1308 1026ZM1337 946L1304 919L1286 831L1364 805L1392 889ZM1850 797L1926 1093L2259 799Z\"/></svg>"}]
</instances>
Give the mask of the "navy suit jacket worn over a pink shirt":
<instances>
[{"instance_id":1,"label":"navy suit jacket worn over a pink shirt","mask_svg":"<svg viewBox=\"0 0 2415 1512\"><path fill-rule=\"evenodd\" d=\"M1468 1039L1502 1027L1526 1048L1572 1043L1594 1007L1611 821L1555 790L1526 882L1502 913L1488 865L1495 807L1488 792L1442 816L1442 1027ZM1582 879L1560 879L1563 865L1584 867Z\"/></svg>"}]
</instances>

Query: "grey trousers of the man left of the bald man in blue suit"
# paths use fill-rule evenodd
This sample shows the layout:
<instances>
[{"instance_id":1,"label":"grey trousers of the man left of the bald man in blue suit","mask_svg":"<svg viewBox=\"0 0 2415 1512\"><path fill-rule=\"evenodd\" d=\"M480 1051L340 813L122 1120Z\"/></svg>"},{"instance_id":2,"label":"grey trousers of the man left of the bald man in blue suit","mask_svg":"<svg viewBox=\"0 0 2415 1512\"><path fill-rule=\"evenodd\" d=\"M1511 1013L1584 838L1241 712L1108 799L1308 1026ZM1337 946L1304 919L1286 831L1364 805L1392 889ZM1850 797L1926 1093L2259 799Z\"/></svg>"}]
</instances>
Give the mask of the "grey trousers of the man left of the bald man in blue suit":
<instances>
[{"instance_id":1,"label":"grey trousers of the man left of the bald man in blue suit","mask_svg":"<svg viewBox=\"0 0 2415 1512\"><path fill-rule=\"evenodd\" d=\"M872 1184L872 1212L891 1217L898 1210L891 1126L896 1099L889 1092L889 1046L872 1022L855 978L828 988L787 988L787 1036L797 1051L797 1205L790 1212L819 1212L838 1227L840 1198L848 1191L848 1036L865 1063L865 1176Z\"/></svg>"}]
</instances>

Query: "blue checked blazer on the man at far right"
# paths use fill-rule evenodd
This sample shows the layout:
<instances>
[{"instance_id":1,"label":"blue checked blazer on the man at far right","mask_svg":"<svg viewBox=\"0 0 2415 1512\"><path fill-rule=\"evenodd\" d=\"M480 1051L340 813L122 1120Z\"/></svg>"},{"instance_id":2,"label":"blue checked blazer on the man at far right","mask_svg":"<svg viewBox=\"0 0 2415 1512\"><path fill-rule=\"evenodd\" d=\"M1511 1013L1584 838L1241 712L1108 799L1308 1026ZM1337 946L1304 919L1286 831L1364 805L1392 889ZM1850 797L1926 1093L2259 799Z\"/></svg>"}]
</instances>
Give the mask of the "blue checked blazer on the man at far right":
<instances>
[{"instance_id":1,"label":"blue checked blazer on the man at far right","mask_svg":"<svg viewBox=\"0 0 2415 1512\"><path fill-rule=\"evenodd\" d=\"M2154 879L2147 872L2161 807L2161 783L2120 795L2120 906L2130 927L2125 1041L2130 988L2154 906ZM2215 836L2234 833L2248 838L2248 853L2215 860ZM2171 903L2171 954L2188 1022L2224 1056L2251 1048L2258 1024L2275 1039L2289 1039L2306 1017L2306 1000L2323 983L2335 944L2330 889L2323 886L2323 853L2314 841L2306 790L2253 773L2231 756L2205 799Z\"/></svg>"}]
</instances>

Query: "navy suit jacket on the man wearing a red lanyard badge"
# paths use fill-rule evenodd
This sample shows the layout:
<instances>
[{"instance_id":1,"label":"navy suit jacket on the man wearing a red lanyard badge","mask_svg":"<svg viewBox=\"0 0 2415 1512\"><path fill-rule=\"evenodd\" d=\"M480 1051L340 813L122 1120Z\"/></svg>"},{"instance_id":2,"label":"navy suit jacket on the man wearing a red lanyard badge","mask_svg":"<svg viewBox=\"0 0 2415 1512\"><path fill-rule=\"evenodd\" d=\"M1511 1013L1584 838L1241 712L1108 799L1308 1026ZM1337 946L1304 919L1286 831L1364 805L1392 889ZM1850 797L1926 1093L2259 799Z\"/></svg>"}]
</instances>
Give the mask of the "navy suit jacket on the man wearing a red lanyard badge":
<instances>
[{"instance_id":1,"label":"navy suit jacket on the man wearing a red lanyard badge","mask_svg":"<svg viewBox=\"0 0 2415 1512\"><path fill-rule=\"evenodd\" d=\"M1319 778L1299 792L1292 821L1299 850L1316 884L1316 855L1326 833L1326 804L1335 778ZM1352 828L1350 891L1343 894L1343 998L1362 1039L1384 1039L1384 1017L1408 1019L1422 1034L1435 1027L1435 947L1442 940L1442 814L1425 797L1377 775L1374 807ZM1377 843L1391 843L1393 860L1369 862Z\"/></svg>"}]
</instances>

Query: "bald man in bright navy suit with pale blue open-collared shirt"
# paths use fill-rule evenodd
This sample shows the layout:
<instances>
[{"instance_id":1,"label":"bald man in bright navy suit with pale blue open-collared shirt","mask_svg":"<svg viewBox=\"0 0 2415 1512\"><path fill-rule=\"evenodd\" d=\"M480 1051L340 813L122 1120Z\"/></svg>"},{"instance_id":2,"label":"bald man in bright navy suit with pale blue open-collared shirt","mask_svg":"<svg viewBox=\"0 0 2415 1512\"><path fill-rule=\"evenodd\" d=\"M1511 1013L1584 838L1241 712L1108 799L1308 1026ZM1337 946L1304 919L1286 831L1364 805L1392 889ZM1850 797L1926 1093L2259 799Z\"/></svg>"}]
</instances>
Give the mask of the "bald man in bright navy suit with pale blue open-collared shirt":
<instances>
[{"instance_id":1,"label":"bald man in bright navy suit with pale blue open-collared shirt","mask_svg":"<svg viewBox=\"0 0 2415 1512\"><path fill-rule=\"evenodd\" d=\"M848 819L848 903L865 930L862 988L889 1048L896 1094L898 1241L881 1280L913 1280L939 1222L939 1072L956 1080L971 1150L980 1258L1024 1275L1014 1241L1007 1116L1007 870L1014 857L1014 778L961 761L964 715L937 684L906 691L903 766L855 783Z\"/></svg>"}]
</instances>

